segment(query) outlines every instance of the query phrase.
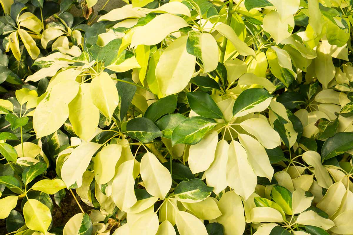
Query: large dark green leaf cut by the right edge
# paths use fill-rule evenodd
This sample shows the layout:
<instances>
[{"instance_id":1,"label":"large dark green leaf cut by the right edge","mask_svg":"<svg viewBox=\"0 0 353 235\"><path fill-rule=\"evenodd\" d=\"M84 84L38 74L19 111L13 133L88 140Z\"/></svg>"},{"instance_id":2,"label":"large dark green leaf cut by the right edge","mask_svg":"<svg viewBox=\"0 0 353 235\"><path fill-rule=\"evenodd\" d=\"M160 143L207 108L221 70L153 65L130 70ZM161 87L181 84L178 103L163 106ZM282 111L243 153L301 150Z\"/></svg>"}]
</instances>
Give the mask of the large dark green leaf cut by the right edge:
<instances>
[{"instance_id":1,"label":"large dark green leaf cut by the right edge","mask_svg":"<svg viewBox=\"0 0 353 235\"><path fill-rule=\"evenodd\" d=\"M322 146L322 161L353 149L353 132L338 132L329 137Z\"/></svg>"}]
</instances>

